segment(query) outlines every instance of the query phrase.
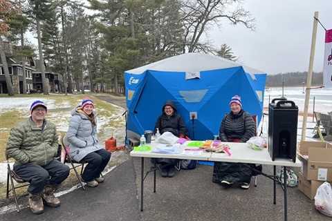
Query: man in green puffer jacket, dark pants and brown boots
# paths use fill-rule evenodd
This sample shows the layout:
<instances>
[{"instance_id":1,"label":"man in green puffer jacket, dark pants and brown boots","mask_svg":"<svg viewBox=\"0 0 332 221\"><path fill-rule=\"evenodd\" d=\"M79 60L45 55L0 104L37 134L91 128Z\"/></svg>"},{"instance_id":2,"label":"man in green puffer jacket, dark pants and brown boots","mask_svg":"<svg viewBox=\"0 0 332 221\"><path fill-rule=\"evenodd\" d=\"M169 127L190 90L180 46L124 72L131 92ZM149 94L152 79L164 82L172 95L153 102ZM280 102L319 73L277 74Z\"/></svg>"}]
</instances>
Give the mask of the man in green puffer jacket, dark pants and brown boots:
<instances>
[{"instance_id":1,"label":"man in green puffer jacket, dark pants and brown boots","mask_svg":"<svg viewBox=\"0 0 332 221\"><path fill-rule=\"evenodd\" d=\"M58 137L55 125L46 121L46 104L35 101L30 106L31 116L10 131L6 153L15 159L14 171L29 182L29 205L33 213L43 213L43 200L48 206L60 205L54 191L69 175L68 166L54 157Z\"/></svg>"}]
</instances>

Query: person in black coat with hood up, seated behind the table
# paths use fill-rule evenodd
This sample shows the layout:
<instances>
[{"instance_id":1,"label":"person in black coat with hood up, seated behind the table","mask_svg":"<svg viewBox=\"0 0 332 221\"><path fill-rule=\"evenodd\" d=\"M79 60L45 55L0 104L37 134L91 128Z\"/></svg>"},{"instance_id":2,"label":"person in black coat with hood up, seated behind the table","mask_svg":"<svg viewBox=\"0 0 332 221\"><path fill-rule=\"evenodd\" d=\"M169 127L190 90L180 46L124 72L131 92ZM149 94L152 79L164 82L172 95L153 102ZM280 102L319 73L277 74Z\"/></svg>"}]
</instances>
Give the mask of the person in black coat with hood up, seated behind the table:
<instances>
[{"instance_id":1,"label":"person in black coat with hood up, seated behind the table","mask_svg":"<svg viewBox=\"0 0 332 221\"><path fill-rule=\"evenodd\" d=\"M165 132L171 132L176 137L186 137L187 128L183 123L183 119L178 113L176 113L176 108L171 101L167 101L162 108L162 115L157 119L154 131L156 133L158 130L160 134ZM162 164L161 166L161 176L163 177L174 177L175 169L174 166L178 163L177 159L168 158L157 158L156 163Z\"/></svg>"}]
</instances>

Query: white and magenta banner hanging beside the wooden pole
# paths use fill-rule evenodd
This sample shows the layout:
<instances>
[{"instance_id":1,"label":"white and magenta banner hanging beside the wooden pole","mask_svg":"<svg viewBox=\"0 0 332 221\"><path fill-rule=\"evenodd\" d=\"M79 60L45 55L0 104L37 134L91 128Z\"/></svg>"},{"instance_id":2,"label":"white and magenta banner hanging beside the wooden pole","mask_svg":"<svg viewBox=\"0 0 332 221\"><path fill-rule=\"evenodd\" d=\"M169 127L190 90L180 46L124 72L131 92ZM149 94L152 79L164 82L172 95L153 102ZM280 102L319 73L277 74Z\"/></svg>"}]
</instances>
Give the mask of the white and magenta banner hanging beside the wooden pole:
<instances>
[{"instance_id":1,"label":"white and magenta banner hanging beside the wooden pole","mask_svg":"<svg viewBox=\"0 0 332 221\"><path fill-rule=\"evenodd\" d=\"M332 88L332 29L325 32L323 80L325 88Z\"/></svg>"}]
</instances>

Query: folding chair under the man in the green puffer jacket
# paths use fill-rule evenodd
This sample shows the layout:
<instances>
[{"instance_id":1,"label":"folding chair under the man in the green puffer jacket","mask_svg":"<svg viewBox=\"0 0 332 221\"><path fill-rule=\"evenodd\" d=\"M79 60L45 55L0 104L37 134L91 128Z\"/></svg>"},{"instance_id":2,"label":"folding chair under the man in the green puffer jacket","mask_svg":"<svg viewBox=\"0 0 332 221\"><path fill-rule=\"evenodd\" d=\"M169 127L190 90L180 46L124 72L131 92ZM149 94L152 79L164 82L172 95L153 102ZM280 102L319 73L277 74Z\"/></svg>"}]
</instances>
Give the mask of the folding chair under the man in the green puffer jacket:
<instances>
[{"instance_id":1,"label":"folding chair under the man in the green puffer jacket","mask_svg":"<svg viewBox=\"0 0 332 221\"><path fill-rule=\"evenodd\" d=\"M9 157L6 154L6 162L7 162L7 189L6 189L6 198L9 198L9 193L12 191L12 195L14 195L15 204L16 204L16 211L19 212L19 203L17 202L17 194L15 189L28 186L28 182L23 180L19 175L15 173L12 169L10 169L9 164ZM19 186L15 186L14 180L17 182L17 184L20 184ZM9 187L10 182L10 187Z\"/></svg>"}]
</instances>

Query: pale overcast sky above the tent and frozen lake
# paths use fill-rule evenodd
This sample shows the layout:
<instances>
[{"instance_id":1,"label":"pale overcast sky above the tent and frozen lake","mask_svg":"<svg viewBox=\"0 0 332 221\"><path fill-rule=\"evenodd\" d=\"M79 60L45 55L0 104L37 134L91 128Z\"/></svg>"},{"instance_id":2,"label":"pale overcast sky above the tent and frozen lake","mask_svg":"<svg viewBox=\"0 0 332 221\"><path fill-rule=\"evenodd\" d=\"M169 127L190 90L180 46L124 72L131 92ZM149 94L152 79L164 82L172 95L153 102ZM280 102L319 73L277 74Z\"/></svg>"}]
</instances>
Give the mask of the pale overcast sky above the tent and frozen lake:
<instances>
[{"instance_id":1,"label":"pale overcast sky above the tent and frozen lake","mask_svg":"<svg viewBox=\"0 0 332 221\"><path fill-rule=\"evenodd\" d=\"M255 32L223 21L209 38L216 46L228 44L239 61L269 75L308 70L315 11L332 29L332 0L246 0L244 6L256 19ZM322 71L324 35L318 24L314 71Z\"/></svg>"}]
</instances>

